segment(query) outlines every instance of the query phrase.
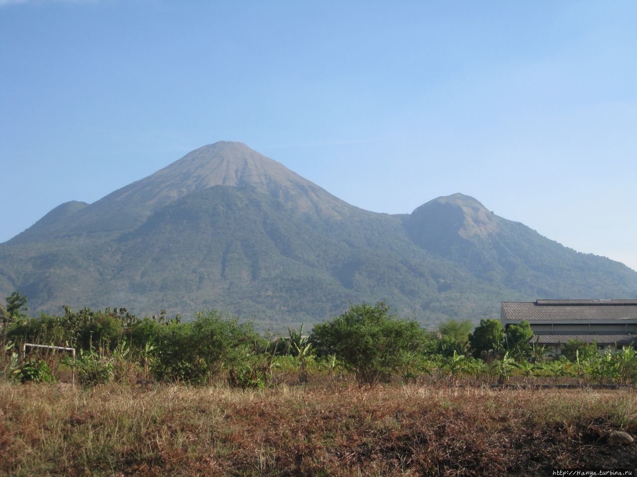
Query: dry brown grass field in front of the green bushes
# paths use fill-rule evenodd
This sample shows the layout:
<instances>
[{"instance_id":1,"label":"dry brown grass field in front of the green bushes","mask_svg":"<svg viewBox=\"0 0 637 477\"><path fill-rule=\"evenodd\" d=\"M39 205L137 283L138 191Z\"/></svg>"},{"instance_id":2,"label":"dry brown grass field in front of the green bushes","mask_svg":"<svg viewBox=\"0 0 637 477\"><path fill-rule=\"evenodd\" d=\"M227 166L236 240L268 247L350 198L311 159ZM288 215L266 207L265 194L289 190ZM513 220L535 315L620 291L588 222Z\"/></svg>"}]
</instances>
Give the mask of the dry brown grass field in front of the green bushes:
<instances>
[{"instance_id":1,"label":"dry brown grass field in front of the green bushes","mask_svg":"<svg viewBox=\"0 0 637 477\"><path fill-rule=\"evenodd\" d=\"M0 474L550 475L637 467L634 391L0 383Z\"/></svg>"}]
</instances>

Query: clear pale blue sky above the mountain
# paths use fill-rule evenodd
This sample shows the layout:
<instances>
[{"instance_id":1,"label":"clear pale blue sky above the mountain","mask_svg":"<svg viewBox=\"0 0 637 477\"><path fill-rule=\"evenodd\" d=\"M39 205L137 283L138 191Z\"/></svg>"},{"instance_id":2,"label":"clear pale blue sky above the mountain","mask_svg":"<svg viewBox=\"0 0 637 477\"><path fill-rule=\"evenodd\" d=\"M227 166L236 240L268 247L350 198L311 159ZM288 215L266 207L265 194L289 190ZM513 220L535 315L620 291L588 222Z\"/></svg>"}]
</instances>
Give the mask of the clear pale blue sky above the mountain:
<instances>
[{"instance_id":1,"label":"clear pale blue sky above the mountain","mask_svg":"<svg viewBox=\"0 0 637 477\"><path fill-rule=\"evenodd\" d=\"M241 141L637 269L637 2L0 0L0 241Z\"/></svg>"}]
</instances>

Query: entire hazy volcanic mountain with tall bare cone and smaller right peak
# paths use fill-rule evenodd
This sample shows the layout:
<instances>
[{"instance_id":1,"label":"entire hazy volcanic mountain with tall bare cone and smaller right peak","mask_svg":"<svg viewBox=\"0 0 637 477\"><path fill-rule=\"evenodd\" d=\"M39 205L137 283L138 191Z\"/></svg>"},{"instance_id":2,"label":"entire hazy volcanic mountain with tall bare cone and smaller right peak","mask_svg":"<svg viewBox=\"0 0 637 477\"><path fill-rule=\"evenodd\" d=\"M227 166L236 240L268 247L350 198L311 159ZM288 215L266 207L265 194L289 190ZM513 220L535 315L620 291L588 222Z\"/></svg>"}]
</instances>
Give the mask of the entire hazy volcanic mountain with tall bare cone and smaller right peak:
<instances>
[{"instance_id":1,"label":"entire hazy volcanic mountain with tall bare cone and smaller right peak","mask_svg":"<svg viewBox=\"0 0 637 477\"><path fill-rule=\"evenodd\" d=\"M364 211L242 143L217 142L94 202L55 207L0 244L0 292L31 309L205 307L262 326L386 300L423 323L496 317L499 302L620 298L637 273L501 218L473 197Z\"/></svg>"}]
</instances>

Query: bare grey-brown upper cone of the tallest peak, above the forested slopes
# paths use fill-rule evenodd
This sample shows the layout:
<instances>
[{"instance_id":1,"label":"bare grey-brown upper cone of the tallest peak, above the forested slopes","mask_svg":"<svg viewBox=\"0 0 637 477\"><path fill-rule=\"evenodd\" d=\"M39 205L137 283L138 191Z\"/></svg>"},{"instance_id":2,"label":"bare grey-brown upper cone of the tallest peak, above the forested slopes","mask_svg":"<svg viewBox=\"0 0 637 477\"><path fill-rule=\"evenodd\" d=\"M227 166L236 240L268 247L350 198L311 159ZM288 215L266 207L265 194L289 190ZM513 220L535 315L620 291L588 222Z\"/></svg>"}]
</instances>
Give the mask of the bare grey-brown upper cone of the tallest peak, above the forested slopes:
<instances>
[{"instance_id":1,"label":"bare grey-brown upper cone of the tallest peak, above the forested slopes","mask_svg":"<svg viewBox=\"0 0 637 477\"><path fill-rule=\"evenodd\" d=\"M323 218L340 219L360 211L242 142L219 141L190 151L164 169L111 192L85 209L72 208L78 212L72 217L62 217L57 211L60 206L45 216L48 221L53 214L55 223L48 223L46 229L37 224L12 240L31 240L42 237L41 233L48 237L90 233L113 239L118 233L141 225L162 206L213 186L254 188L279 200L287 209Z\"/></svg>"}]
</instances>

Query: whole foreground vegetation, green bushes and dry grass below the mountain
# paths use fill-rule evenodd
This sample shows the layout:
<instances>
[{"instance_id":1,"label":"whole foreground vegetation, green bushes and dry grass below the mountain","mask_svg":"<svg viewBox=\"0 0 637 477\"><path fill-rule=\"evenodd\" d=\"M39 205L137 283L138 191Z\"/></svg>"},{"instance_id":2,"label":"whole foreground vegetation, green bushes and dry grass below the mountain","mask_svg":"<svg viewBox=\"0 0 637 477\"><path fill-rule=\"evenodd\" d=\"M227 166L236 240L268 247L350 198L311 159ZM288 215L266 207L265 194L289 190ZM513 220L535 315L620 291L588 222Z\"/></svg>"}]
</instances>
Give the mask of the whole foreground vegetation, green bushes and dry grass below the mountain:
<instances>
[{"instance_id":1,"label":"whole foreground vegetation, green bushes and dry grass below the mountain","mask_svg":"<svg viewBox=\"0 0 637 477\"><path fill-rule=\"evenodd\" d=\"M309 336L268 338L216 311L183 323L122 308L32 318L22 305L3 312L0 474L637 467L637 395L622 388L637 380L631 347L598 356L571 343L555 359L524 323L505 331L487 320L469 333L450 321L438 336L383 303L351 305ZM80 385L64 382L71 357L43 348L22 358L25 340L78 349Z\"/></svg>"}]
</instances>

